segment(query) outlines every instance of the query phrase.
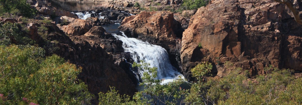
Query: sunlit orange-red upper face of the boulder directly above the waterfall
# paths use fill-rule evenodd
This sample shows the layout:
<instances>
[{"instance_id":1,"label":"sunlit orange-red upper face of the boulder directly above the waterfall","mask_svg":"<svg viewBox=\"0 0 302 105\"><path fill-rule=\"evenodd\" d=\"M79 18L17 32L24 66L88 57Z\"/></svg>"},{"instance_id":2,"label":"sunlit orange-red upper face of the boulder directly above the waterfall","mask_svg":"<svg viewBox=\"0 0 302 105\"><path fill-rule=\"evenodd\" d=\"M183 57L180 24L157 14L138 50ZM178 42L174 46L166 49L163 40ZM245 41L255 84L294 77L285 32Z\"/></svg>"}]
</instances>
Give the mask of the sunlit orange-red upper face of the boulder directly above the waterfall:
<instances>
[{"instance_id":1,"label":"sunlit orange-red upper face of the boulder directly above the waterfall","mask_svg":"<svg viewBox=\"0 0 302 105\"><path fill-rule=\"evenodd\" d=\"M131 30L134 36L143 35L159 40L173 40L173 13L168 11L141 12L136 16L125 18L121 30Z\"/></svg>"}]
</instances>

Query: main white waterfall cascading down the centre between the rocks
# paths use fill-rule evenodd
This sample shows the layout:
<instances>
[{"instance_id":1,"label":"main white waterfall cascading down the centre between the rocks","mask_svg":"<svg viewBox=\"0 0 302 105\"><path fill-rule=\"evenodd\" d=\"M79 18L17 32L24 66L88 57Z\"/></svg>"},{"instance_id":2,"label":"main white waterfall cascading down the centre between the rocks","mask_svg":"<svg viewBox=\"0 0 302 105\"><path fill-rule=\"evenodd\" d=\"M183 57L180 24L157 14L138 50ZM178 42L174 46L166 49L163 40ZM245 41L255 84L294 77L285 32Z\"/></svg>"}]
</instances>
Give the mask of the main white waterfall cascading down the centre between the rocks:
<instances>
[{"instance_id":1,"label":"main white waterfall cascading down the centre between the rocks","mask_svg":"<svg viewBox=\"0 0 302 105\"><path fill-rule=\"evenodd\" d=\"M113 34L115 38L123 41L123 48L125 52L130 52L133 60L138 62L144 60L149 63L151 67L157 67L157 78L163 80L162 84L171 82L182 76L176 71L170 63L167 51L158 46L149 44L148 42L140 41L136 38L128 38L123 32L122 35ZM140 75L143 75L143 71L139 71Z\"/></svg>"}]
</instances>

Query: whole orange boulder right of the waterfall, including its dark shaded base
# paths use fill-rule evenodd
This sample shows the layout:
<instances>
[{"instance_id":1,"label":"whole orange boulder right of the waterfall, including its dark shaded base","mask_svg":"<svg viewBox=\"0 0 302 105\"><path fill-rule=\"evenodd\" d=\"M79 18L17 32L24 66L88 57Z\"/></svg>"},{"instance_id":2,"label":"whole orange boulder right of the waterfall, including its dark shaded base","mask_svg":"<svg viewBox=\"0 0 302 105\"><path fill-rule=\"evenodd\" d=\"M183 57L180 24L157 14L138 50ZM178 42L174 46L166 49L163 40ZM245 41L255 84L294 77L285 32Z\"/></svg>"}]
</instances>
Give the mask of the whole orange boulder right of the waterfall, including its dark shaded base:
<instances>
[{"instance_id":1,"label":"whole orange boulder right of the waterfall, including its dark shaded base","mask_svg":"<svg viewBox=\"0 0 302 105\"><path fill-rule=\"evenodd\" d=\"M125 31L128 37L142 39L165 48L174 67L180 69L180 39L175 32L179 22L172 12L153 11L141 12L125 18L119 29Z\"/></svg>"}]
</instances>

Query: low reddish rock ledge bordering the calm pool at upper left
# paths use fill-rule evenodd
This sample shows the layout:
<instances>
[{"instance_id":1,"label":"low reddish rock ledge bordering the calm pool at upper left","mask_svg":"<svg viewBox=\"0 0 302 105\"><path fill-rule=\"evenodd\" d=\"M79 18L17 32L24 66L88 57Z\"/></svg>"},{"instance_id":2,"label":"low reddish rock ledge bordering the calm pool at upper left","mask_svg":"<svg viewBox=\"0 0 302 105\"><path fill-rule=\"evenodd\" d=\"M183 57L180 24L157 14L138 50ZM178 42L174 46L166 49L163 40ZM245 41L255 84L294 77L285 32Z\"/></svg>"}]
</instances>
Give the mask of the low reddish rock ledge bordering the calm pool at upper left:
<instances>
[{"instance_id":1,"label":"low reddish rock ledge bordering the calm pool at upper left","mask_svg":"<svg viewBox=\"0 0 302 105\"><path fill-rule=\"evenodd\" d=\"M63 11L63 10L58 10L58 9L53 9L53 8L46 8L46 7L37 7L37 10L39 11L40 14L44 15L54 15L54 16L67 16L71 18L78 18L69 11Z\"/></svg>"}]
</instances>

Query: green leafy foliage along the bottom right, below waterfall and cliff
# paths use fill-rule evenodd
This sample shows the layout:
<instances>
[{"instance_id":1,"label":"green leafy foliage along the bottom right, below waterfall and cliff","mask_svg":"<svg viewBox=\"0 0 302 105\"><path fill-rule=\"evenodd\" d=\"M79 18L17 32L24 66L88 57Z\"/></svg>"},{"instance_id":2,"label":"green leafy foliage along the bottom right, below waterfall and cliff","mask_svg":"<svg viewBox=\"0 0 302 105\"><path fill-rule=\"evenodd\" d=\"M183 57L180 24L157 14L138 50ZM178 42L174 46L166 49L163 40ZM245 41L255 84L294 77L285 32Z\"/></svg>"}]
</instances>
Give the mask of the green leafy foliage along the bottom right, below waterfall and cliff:
<instances>
[{"instance_id":1,"label":"green leafy foliage along the bottom right, below waterfall and cliff","mask_svg":"<svg viewBox=\"0 0 302 105\"><path fill-rule=\"evenodd\" d=\"M230 62L226 64L226 67L233 65ZM192 75L197 78L197 81L190 83L186 88L183 87L185 82L181 79L161 84L160 80L155 79L156 68L149 67L148 64L134 63L133 66L146 71L143 75L143 81L146 82L140 84L144 86L144 90L134 95L133 99L136 101L119 101L125 101L127 104L122 103L125 105L299 105L302 103L302 92L300 91L302 78L294 79L292 71L286 69L267 67L265 68L266 75L249 79L248 71L235 68L226 77L216 80L205 77L212 66L208 62L204 62L191 69ZM110 94L110 96L112 97L114 94ZM109 99L106 95L101 97ZM116 98L118 97L113 99Z\"/></svg>"}]
</instances>

